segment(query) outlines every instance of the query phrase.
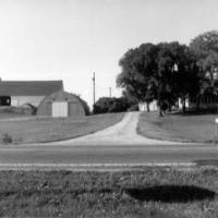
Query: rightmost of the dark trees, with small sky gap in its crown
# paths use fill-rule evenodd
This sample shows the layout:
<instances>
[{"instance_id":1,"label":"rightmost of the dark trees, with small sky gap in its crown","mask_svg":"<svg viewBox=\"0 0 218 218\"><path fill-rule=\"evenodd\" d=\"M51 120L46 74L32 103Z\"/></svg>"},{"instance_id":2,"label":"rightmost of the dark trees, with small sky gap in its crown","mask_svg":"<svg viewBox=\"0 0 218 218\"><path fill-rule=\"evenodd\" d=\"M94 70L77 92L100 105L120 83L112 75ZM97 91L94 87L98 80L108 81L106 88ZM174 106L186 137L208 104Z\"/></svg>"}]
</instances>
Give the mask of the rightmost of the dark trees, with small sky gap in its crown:
<instances>
[{"instance_id":1,"label":"rightmost of the dark trees, with small sky gap in its crown","mask_svg":"<svg viewBox=\"0 0 218 218\"><path fill-rule=\"evenodd\" d=\"M170 56L168 58L170 60L169 69L171 69L171 80L169 78L168 84L171 86L172 102L180 98L183 112L185 112L185 100L196 96L199 87L196 58L187 46L180 45L177 41L168 44L167 47Z\"/></svg>"}]
</instances>

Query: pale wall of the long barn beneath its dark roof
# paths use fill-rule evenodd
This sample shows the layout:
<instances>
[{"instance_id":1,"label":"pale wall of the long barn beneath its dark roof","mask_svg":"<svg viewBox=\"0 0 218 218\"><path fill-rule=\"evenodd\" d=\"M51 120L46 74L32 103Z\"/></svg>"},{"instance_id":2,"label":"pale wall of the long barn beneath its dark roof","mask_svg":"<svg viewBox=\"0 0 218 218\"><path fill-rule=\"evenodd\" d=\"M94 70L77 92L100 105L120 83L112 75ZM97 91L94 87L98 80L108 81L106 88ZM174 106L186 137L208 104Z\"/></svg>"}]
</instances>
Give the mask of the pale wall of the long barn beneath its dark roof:
<instances>
[{"instance_id":1,"label":"pale wall of the long barn beneath its dark roof","mask_svg":"<svg viewBox=\"0 0 218 218\"><path fill-rule=\"evenodd\" d=\"M22 106L25 104L31 104L38 107L40 101L45 96L11 96L11 106Z\"/></svg>"}]
</instances>

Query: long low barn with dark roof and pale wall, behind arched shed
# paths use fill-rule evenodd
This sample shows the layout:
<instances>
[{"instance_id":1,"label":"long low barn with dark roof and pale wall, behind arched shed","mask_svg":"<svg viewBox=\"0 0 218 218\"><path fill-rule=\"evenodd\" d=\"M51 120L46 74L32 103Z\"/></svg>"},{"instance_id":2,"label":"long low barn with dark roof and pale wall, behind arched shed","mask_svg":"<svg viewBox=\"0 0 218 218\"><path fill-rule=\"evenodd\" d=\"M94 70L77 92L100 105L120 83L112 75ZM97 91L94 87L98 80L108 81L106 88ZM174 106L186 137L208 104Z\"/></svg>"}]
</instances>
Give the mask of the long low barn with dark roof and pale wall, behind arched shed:
<instances>
[{"instance_id":1,"label":"long low barn with dark roof and pale wall, behind arched shed","mask_svg":"<svg viewBox=\"0 0 218 218\"><path fill-rule=\"evenodd\" d=\"M62 81L0 81L0 106L38 107L51 93L63 90Z\"/></svg>"}]
</instances>

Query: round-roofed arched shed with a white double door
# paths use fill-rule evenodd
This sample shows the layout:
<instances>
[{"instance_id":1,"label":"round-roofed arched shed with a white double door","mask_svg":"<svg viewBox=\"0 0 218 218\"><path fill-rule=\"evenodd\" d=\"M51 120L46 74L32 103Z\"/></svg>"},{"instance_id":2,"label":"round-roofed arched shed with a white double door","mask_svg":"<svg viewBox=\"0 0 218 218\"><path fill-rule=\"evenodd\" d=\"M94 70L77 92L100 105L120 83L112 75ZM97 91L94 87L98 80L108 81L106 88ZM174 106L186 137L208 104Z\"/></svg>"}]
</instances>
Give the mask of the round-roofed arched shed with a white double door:
<instances>
[{"instance_id":1,"label":"round-roofed arched shed with a white double door","mask_svg":"<svg viewBox=\"0 0 218 218\"><path fill-rule=\"evenodd\" d=\"M63 90L45 97L37 110L37 116L78 117L85 114L84 101L80 97Z\"/></svg>"}]
</instances>

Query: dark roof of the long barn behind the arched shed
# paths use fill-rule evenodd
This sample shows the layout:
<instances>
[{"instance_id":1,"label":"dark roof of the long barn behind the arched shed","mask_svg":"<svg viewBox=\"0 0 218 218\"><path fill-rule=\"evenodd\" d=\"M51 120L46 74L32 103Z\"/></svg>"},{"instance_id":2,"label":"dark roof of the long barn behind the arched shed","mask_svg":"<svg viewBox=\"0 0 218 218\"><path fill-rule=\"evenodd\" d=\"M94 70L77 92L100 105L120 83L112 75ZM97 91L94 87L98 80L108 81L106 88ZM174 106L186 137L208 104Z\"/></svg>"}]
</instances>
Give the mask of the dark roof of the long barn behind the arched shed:
<instances>
[{"instance_id":1,"label":"dark roof of the long barn behind the arched shed","mask_svg":"<svg viewBox=\"0 0 218 218\"><path fill-rule=\"evenodd\" d=\"M62 81L0 81L0 96L47 96L62 89Z\"/></svg>"}]
</instances>

